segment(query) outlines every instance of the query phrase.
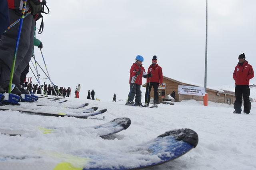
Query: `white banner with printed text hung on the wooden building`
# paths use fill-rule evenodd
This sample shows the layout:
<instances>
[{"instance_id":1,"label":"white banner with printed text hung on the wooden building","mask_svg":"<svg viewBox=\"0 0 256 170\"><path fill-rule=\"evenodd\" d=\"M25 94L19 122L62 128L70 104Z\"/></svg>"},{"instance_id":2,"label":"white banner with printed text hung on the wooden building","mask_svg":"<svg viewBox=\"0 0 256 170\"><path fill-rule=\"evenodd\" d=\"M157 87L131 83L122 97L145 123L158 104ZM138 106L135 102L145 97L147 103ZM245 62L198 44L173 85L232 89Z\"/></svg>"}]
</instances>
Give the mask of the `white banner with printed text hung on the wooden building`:
<instances>
[{"instance_id":1,"label":"white banner with printed text hung on the wooden building","mask_svg":"<svg viewBox=\"0 0 256 170\"><path fill-rule=\"evenodd\" d=\"M194 87L194 86L181 86L178 85L178 94L187 94L195 96L204 96L204 87Z\"/></svg>"}]
</instances>

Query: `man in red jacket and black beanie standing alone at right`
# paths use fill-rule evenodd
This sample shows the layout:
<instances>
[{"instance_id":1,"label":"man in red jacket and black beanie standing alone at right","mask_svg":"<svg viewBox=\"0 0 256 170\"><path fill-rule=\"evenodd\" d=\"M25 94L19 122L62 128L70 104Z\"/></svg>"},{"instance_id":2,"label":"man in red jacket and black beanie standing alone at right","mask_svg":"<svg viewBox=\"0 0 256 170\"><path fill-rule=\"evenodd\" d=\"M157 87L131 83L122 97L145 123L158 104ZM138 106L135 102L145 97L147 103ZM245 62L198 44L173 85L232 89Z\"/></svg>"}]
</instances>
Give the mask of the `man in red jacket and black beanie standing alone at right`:
<instances>
[{"instance_id":1,"label":"man in red jacket and black beanie standing alone at right","mask_svg":"<svg viewBox=\"0 0 256 170\"><path fill-rule=\"evenodd\" d=\"M248 61L245 60L245 55L240 54L238 56L238 64L235 67L233 78L235 80L236 88L236 101L234 102L234 109L233 113L241 113L242 109L242 96L244 98L244 114L249 114L251 111L251 102L249 100L250 96L250 88L249 83L250 79L254 77L254 72L252 66L248 64Z\"/></svg>"}]
</instances>

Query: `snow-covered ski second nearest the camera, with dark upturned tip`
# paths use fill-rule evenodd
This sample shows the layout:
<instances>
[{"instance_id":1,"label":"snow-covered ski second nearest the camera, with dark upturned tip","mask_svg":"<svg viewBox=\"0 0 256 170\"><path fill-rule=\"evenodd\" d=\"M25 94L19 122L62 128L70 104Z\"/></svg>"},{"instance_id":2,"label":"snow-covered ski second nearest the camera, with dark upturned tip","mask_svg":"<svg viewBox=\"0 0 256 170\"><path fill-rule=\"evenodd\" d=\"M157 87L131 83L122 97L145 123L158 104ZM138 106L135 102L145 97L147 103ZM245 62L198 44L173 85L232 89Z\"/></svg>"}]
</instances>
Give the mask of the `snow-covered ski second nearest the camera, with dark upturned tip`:
<instances>
[{"instance_id":1,"label":"snow-covered ski second nearest the camera, with dark upturned tip","mask_svg":"<svg viewBox=\"0 0 256 170\"><path fill-rule=\"evenodd\" d=\"M122 130L126 130L131 124L131 120L129 118L116 118L114 120L111 120L110 122L100 124L97 126L90 126L90 127L78 127L81 132L86 131L90 133L96 133L98 136L108 136L110 134L116 134ZM60 131L65 131L66 133L70 133L66 130L66 128L43 128L43 127L30 127L29 130L22 130L27 129L24 128L26 125L6 125L8 128L5 128L4 124L0 125L0 133L1 134L8 134L10 136L16 136L16 135L30 135L36 132L40 132L41 134L53 134L58 133ZM14 126L14 127L12 127ZM74 132L72 132L74 133ZM79 134L80 132L78 132ZM32 135L33 136L33 135Z\"/></svg>"}]
</instances>

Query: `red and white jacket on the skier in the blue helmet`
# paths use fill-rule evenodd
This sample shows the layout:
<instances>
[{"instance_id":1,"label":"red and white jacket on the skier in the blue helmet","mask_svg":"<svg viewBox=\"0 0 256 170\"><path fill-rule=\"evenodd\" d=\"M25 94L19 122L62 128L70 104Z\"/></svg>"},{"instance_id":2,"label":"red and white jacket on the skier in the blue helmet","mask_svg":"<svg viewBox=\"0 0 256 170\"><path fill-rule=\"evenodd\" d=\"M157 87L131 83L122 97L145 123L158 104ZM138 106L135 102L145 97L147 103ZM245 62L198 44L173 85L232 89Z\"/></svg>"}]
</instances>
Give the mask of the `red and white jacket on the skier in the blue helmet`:
<instances>
[{"instance_id":1,"label":"red and white jacket on the skier in the blue helmet","mask_svg":"<svg viewBox=\"0 0 256 170\"><path fill-rule=\"evenodd\" d=\"M136 76L136 72L138 72L139 70L140 70L140 74ZM133 84L135 81L135 84L142 85L142 76L145 76L145 75L147 75L147 73L145 72L144 67L142 67L142 64L139 65L137 63L133 63L130 69L129 83Z\"/></svg>"}]
</instances>

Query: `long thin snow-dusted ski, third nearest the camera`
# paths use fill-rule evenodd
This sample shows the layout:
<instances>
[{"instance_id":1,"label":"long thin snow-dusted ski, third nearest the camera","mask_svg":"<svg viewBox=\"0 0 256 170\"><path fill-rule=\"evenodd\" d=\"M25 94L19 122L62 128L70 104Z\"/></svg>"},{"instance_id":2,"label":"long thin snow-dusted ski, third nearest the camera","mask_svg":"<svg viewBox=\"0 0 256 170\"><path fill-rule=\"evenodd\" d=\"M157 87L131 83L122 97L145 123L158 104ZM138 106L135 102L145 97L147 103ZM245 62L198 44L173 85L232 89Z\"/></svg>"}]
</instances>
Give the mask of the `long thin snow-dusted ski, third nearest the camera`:
<instances>
[{"instance_id":1,"label":"long thin snow-dusted ski, third nearest the camera","mask_svg":"<svg viewBox=\"0 0 256 170\"><path fill-rule=\"evenodd\" d=\"M107 109L102 109L96 112L84 111L84 112L77 112L77 113L56 113L56 112L44 112L44 111L34 110L34 109L15 108L12 106L0 106L0 110L16 110L21 113L40 115L40 116L61 116L61 117L68 116L68 117L85 118L85 119L89 116L95 116L107 111Z\"/></svg>"}]
</instances>

